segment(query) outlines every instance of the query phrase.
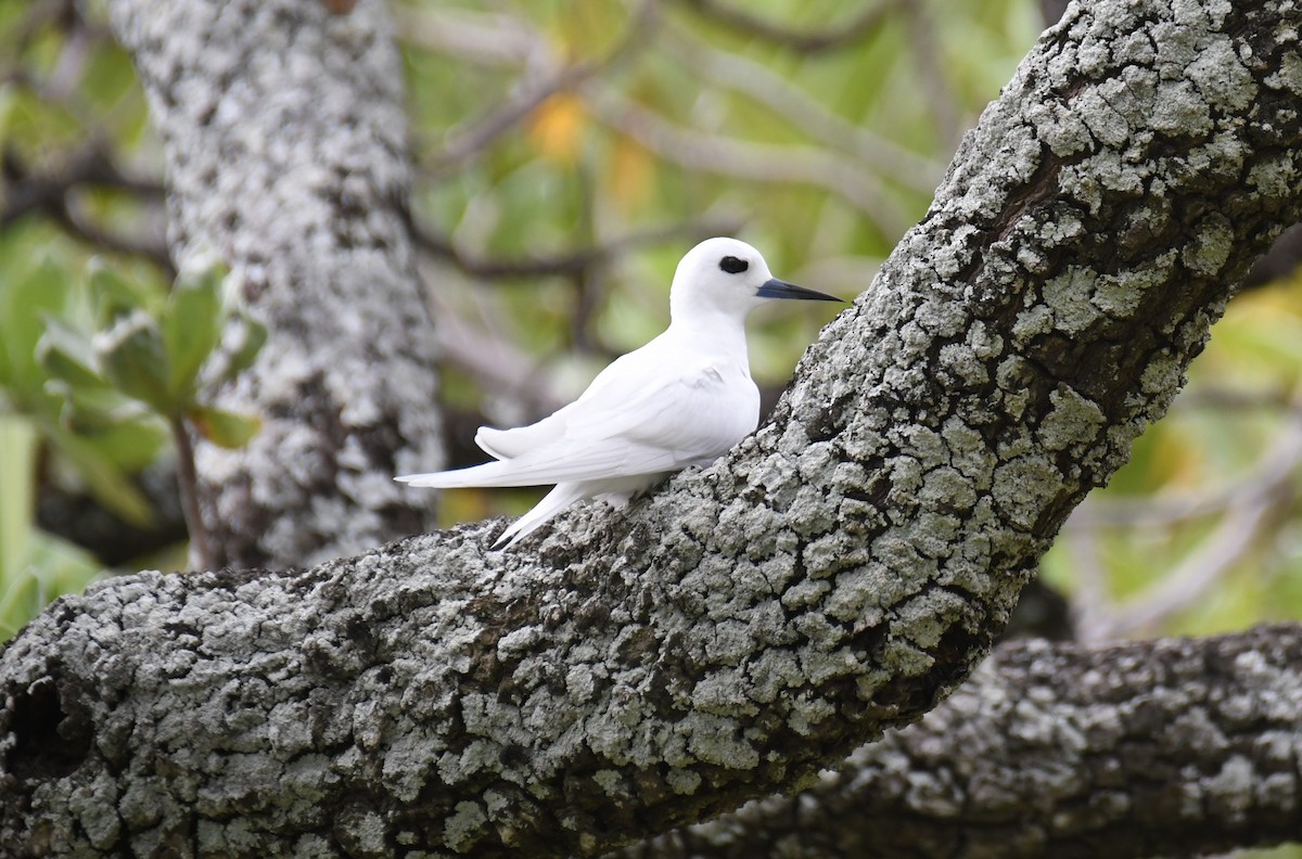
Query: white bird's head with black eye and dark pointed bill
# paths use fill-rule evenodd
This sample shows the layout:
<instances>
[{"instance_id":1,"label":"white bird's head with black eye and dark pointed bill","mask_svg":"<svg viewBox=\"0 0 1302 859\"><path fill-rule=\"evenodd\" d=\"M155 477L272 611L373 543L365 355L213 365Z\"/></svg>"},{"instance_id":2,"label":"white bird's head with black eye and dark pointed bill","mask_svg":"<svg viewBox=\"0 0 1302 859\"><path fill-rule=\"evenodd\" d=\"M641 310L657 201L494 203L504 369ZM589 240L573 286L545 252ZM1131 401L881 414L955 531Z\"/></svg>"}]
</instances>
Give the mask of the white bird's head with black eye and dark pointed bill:
<instances>
[{"instance_id":1,"label":"white bird's head with black eye and dark pointed bill","mask_svg":"<svg viewBox=\"0 0 1302 859\"><path fill-rule=\"evenodd\" d=\"M686 320L721 314L742 320L775 298L841 301L777 280L760 252L746 242L707 238L687 251L673 273L669 316Z\"/></svg>"}]
</instances>

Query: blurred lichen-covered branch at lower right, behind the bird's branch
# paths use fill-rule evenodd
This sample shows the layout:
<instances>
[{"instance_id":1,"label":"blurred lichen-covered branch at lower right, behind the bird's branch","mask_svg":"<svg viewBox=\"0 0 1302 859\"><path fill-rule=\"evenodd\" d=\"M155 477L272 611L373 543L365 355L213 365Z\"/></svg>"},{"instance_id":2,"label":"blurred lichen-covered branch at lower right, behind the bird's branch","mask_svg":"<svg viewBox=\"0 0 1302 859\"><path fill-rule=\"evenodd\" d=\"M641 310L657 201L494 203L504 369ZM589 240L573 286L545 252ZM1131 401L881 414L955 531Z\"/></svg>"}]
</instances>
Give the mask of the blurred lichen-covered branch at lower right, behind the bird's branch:
<instances>
[{"instance_id":1,"label":"blurred lichen-covered branch at lower right, behind the bird's branch","mask_svg":"<svg viewBox=\"0 0 1302 859\"><path fill-rule=\"evenodd\" d=\"M1302 841L1302 626L1000 646L794 798L621 855L1184 856Z\"/></svg>"}]
</instances>

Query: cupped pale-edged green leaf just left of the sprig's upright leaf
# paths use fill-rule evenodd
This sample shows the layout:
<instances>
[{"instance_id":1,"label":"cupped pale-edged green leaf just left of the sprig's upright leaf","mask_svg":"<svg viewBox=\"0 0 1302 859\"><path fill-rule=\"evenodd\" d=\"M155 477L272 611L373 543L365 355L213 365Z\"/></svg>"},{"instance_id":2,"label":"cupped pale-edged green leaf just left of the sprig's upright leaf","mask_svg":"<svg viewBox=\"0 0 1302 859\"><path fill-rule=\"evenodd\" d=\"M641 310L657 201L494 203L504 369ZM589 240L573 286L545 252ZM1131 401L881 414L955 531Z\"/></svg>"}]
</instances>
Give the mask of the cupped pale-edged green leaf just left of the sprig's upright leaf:
<instances>
[{"instance_id":1,"label":"cupped pale-edged green leaf just left of the sprig's upright leaf","mask_svg":"<svg viewBox=\"0 0 1302 859\"><path fill-rule=\"evenodd\" d=\"M168 355L154 318L134 310L91 341L104 377L125 393L148 405L164 418L184 411L168 384Z\"/></svg>"}]
</instances>

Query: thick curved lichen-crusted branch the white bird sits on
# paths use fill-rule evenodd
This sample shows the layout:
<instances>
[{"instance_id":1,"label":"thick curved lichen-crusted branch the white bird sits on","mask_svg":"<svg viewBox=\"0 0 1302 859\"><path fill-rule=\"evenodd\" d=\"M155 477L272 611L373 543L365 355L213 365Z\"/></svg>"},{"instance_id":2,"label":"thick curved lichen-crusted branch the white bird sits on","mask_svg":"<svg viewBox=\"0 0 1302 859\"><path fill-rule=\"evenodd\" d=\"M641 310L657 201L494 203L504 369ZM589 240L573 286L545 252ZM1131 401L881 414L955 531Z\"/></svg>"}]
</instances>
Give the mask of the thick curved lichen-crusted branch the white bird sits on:
<instances>
[{"instance_id":1,"label":"thick curved lichen-crusted branch the white bird sits on","mask_svg":"<svg viewBox=\"0 0 1302 859\"><path fill-rule=\"evenodd\" d=\"M1298 220L1299 25L1073 7L773 423L626 513L61 601L0 655L0 839L591 854L918 718Z\"/></svg>"}]
</instances>

